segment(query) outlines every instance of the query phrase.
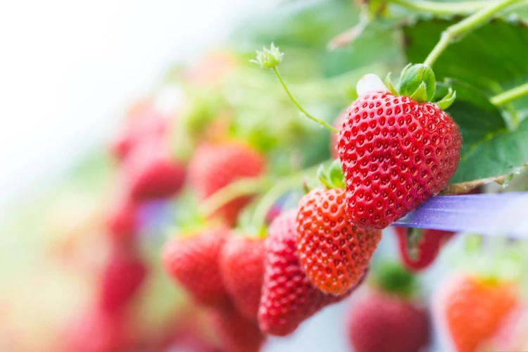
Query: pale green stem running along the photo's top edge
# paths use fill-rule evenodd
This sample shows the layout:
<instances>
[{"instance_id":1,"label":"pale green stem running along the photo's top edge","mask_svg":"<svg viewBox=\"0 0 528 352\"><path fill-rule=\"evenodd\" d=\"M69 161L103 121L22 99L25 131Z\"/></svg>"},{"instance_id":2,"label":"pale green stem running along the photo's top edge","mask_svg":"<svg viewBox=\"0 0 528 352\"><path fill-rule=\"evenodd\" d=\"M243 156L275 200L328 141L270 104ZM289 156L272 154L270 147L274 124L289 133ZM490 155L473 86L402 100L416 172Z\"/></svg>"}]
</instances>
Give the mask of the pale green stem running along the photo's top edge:
<instances>
[{"instance_id":1,"label":"pale green stem running along the photo's top edge","mask_svg":"<svg viewBox=\"0 0 528 352\"><path fill-rule=\"evenodd\" d=\"M434 15L470 15L490 4L490 1L486 0L460 3L439 3L427 0L389 0L388 2L409 8L410 10L425 11Z\"/></svg>"}]
</instances>

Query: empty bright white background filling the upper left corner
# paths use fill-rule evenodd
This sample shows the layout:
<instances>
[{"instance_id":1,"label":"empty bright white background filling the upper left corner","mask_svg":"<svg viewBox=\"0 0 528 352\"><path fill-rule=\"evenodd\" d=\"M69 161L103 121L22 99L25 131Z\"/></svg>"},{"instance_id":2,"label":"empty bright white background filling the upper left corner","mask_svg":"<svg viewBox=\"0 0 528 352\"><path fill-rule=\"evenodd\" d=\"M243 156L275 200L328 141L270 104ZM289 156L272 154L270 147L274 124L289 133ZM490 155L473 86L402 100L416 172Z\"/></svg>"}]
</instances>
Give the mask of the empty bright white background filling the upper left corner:
<instances>
[{"instance_id":1,"label":"empty bright white background filling the upper left corner","mask_svg":"<svg viewBox=\"0 0 528 352\"><path fill-rule=\"evenodd\" d=\"M0 0L0 212L106 142L176 61L277 0Z\"/></svg>"}]
</instances>

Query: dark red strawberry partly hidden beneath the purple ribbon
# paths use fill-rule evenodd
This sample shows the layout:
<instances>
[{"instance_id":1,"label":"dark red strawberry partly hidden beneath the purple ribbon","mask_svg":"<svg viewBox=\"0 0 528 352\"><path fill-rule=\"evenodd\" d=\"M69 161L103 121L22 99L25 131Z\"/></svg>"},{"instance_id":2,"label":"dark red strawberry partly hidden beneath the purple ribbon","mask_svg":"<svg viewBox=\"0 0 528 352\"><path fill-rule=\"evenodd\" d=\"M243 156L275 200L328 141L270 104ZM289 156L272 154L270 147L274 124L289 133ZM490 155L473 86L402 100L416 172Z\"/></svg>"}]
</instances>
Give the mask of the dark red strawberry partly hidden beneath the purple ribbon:
<instances>
[{"instance_id":1,"label":"dark red strawberry partly hidden beneath the purple ribbon","mask_svg":"<svg viewBox=\"0 0 528 352\"><path fill-rule=\"evenodd\" d=\"M441 230L420 230L410 229L407 227L394 227L396 236L398 238L398 249L403 265L409 270L419 271L427 268L434 259L438 256L441 246L443 246L455 232L441 231ZM417 253L413 258L412 253L409 252L408 238L410 232L420 231L421 237L417 243Z\"/></svg>"}]
</instances>

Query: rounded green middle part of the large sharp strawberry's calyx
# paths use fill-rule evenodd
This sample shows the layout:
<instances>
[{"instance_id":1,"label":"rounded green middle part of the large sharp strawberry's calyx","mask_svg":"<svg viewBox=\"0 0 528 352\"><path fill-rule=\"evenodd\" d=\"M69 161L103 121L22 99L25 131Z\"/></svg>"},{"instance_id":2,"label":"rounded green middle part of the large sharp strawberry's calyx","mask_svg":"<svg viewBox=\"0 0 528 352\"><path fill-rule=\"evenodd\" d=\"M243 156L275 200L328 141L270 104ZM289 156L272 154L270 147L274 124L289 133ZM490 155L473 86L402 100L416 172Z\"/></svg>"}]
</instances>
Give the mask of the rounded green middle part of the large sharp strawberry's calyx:
<instances>
[{"instance_id":1,"label":"rounded green middle part of the large sharp strawberry's calyx","mask_svg":"<svg viewBox=\"0 0 528 352\"><path fill-rule=\"evenodd\" d=\"M415 101L432 101L436 91L436 80L432 68L423 63L407 65L401 71L399 94Z\"/></svg>"}]
</instances>

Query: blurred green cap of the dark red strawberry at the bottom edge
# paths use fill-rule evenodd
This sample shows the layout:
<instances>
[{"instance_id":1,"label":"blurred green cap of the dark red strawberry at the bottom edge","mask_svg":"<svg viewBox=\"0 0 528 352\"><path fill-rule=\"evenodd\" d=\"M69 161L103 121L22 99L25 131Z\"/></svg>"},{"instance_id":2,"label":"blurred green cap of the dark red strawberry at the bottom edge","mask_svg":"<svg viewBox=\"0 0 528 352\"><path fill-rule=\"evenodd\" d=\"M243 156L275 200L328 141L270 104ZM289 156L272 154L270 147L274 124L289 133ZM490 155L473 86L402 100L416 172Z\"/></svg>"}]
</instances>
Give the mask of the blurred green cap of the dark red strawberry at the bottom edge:
<instances>
[{"instance_id":1,"label":"blurred green cap of the dark red strawberry at the bottom edge","mask_svg":"<svg viewBox=\"0 0 528 352\"><path fill-rule=\"evenodd\" d=\"M377 287L403 298L410 298L417 289L416 277L398 263L386 262L375 268L374 279Z\"/></svg>"}]
</instances>

